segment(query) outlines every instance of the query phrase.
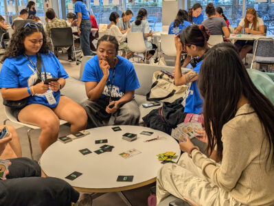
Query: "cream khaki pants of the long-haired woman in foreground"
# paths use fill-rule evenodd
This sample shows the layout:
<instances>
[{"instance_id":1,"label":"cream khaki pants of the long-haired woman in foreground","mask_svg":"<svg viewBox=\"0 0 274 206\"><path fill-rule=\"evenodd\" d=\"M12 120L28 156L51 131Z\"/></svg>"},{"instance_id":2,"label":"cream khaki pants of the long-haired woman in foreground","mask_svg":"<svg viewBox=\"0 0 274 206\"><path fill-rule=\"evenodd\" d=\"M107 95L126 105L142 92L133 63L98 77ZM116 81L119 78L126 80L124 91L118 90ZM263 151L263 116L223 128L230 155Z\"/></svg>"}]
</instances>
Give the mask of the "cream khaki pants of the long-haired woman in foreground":
<instances>
[{"instance_id":1,"label":"cream khaki pants of the long-haired woman in foreground","mask_svg":"<svg viewBox=\"0 0 274 206\"><path fill-rule=\"evenodd\" d=\"M157 204L172 194L177 198L188 198L197 205L242 205L229 192L211 183L185 152L177 164L166 163L159 170L156 191Z\"/></svg>"}]
</instances>

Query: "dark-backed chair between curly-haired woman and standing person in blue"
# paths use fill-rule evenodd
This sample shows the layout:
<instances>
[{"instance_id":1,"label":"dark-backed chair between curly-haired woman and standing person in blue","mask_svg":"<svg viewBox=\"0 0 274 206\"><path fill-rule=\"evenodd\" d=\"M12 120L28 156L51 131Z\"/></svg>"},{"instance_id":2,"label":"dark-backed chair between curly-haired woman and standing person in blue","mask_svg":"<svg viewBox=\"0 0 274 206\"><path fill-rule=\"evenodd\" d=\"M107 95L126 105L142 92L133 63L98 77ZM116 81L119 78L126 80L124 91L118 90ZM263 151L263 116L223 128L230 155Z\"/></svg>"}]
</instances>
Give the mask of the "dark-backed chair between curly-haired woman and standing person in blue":
<instances>
[{"instance_id":1,"label":"dark-backed chair between curly-haired woman and standing person in blue","mask_svg":"<svg viewBox=\"0 0 274 206\"><path fill-rule=\"evenodd\" d=\"M72 35L71 27L64 28L52 28L50 30L50 38L54 47L71 47L73 49L73 56L76 60L76 65L79 65L77 61L77 54L74 45L74 38Z\"/></svg>"}]
</instances>

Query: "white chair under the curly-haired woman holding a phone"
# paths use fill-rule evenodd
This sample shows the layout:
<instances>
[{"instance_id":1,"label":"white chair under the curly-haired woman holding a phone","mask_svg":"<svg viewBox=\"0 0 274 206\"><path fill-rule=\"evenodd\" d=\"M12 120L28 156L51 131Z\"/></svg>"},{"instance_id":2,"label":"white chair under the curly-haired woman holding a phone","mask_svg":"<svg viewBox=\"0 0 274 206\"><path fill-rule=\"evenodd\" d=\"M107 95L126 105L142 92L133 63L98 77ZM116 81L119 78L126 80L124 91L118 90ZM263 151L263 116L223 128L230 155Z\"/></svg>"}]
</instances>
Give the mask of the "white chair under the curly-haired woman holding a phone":
<instances>
[{"instance_id":1,"label":"white chair under the curly-haired woman holding a phone","mask_svg":"<svg viewBox=\"0 0 274 206\"><path fill-rule=\"evenodd\" d=\"M7 116L8 119L5 119L3 121L3 124L5 125L5 122L7 122L8 120L10 120L10 122L13 122L13 123L16 123L16 124L21 124L23 126L27 126L29 129L27 130L27 139L29 140L29 146L30 146L30 155L32 157L32 159L34 159L33 157L33 152L32 152L32 139L30 138L30 132L32 130L36 130L36 129L39 129L40 127L38 126L34 126L32 124L25 124L25 123L22 123L22 122L19 122L16 117L14 117L14 115L12 115L12 111L11 111L11 108L8 107L8 106L4 106L5 107L5 115ZM62 124L66 124L67 121L65 120L62 120L60 119L60 125Z\"/></svg>"}]
</instances>

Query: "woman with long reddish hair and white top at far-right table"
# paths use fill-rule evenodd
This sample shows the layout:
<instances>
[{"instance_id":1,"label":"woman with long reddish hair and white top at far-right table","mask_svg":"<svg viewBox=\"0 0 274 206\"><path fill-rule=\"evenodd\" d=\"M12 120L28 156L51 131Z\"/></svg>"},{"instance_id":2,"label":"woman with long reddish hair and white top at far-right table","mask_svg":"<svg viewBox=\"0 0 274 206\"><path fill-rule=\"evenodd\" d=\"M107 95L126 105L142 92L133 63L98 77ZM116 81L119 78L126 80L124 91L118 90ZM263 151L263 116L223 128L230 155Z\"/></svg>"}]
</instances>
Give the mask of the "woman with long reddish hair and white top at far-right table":
<instances>
[{"instance_id":1,"label":"woman with long reddish hair and white top at far-right table","mask_svg":"<svg viewBox=\"0 0 274 206\"><path fill-rule=\"evenodd\" d=\"M247 10L246 16L240 21L238 27L234 30L233 33L240 33L242 28L244 28L245 34L264 34L264 21L262 21L262 19L257 16L257 12L254 8L249 8ZM247 52L253 49L253 43L254 41L236 41L235 46L240 52L241 59L247 56Z\"/></svg>"}]
</instances>

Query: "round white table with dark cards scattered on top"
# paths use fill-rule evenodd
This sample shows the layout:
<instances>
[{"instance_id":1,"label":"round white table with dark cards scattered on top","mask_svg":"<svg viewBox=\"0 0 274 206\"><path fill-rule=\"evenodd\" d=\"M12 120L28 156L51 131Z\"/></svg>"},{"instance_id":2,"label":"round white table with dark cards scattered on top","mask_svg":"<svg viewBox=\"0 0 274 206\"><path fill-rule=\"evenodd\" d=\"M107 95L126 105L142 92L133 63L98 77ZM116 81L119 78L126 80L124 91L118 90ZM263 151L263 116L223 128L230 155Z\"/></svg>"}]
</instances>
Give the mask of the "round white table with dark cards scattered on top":
<instances>
[{"instance_id":1,"label":"round white table with dark cards scattered on top","mask_svg":"<svg viewBox=\"0 0 274 206\"><path fill-rule=\"evenodd\" d=\"M163 164L159 153L176 152L172 161L178 161L181 154L176 140L159 130L141 126L119 126L122 130L114 132L114 126L90 129L90 135L63 144L56 141L49 146L41 157L41 168L47 176L54 176L67 181L80 192L117 192L142 187L156 181L158 170ZM141 135L141 131L153 132L152 135ZM137 134L135 141L122 139L124 133ZM159 140L144 142L159 135ZM95 144L95 140L108 139L107 145L114 146L112 152L97 155L94 151L104 144ZM79 150L88 148L89 155L82 155ZM135 148L141 153L128 159L119 154ZM82 175L70 181L65 179L72 172ZM133 175L133 182L117 182L117 176Z\"/></svg>"}]
</instances>

